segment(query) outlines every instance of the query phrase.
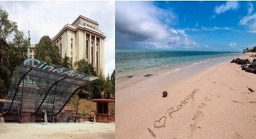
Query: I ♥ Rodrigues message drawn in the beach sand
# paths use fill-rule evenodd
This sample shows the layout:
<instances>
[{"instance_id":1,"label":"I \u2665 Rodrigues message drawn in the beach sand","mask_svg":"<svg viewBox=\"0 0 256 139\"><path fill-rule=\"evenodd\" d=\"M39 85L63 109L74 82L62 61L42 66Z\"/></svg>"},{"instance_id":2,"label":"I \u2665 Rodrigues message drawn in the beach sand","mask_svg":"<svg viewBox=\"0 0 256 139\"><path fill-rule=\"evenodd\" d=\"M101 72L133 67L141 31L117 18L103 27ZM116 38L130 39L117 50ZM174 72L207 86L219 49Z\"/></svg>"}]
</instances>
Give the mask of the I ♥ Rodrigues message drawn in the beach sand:
<instances>
[{"instance_id":1,"label":"I \u2665 Rodrigues message drawn in the beach sand","mask_svg":"<svg viewBox=\"0 0 256 139\"><path fill-rule=\"evenodd\" d=\"M172 107L169 108L166 112L165 115L160 117L159 120L156 120L154 123L154 128L159 129L159 128L163 128L165 127L165 121L167 120L167 117L169 116L170 119L172 119L172 114L174 112L178 112L180 111L180 109L182 109L182 107L186 106L186 104L188 103L188 101L192 98L194 99L194 94L197 93L197 91L199 91L199 89L194 89L189 95L186 96L186 98L184 100L181 100L181 103L178 104L177 107ZM167 115L167 116L166 116ZM151 133L151 136L156 137L156 134L153 133L153 131L151 129L148 128L148 132Z\"/></svg>"}]
</instances>

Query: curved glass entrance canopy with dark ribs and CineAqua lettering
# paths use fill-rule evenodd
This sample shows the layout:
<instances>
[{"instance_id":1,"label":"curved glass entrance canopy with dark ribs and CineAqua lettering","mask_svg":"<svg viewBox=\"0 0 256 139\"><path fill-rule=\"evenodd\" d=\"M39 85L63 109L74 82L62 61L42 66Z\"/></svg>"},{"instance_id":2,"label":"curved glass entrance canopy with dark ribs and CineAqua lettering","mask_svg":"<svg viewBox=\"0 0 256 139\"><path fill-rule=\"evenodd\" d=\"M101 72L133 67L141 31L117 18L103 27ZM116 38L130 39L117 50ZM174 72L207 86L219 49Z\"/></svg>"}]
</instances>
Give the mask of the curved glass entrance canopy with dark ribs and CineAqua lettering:
<instances>
[{"instance_id":1,"label":"curved glass entrance canopy with dark ribs and CineAqua lettering","mask_svg":"<svg viewBox=\"0 0 256 139\"><path fill-rule=\"evenodd\" d=\"M9 87L3 114L35 115L47 112L58 115L72 95L97 77L72 69L50 65L36 59L27 59L15 71Z\"/></svg>"}]
</instances>

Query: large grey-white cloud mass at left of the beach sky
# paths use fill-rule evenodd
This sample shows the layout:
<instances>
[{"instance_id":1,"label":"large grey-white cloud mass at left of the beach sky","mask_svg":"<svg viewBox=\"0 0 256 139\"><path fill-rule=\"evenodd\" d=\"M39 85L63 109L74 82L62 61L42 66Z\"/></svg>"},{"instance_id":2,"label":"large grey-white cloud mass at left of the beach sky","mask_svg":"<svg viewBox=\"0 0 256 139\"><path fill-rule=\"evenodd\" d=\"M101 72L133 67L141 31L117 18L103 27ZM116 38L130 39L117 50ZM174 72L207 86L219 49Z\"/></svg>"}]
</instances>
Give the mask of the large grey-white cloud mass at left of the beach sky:
<instances>
[{"instance_id":1,"label":"large grey-white cloud mass at left of the beach sky","mask_svg":"<svg viewBox=\"0 0 256 139\"><path fill-rule=\"evenodd\" d=\"M160 9L153 2L116 2L116 31L125 36L125 45L131 41L157 49L196 45L184 30L169 27L177 22L173 11Z\"/></svg>"}]
</instances>

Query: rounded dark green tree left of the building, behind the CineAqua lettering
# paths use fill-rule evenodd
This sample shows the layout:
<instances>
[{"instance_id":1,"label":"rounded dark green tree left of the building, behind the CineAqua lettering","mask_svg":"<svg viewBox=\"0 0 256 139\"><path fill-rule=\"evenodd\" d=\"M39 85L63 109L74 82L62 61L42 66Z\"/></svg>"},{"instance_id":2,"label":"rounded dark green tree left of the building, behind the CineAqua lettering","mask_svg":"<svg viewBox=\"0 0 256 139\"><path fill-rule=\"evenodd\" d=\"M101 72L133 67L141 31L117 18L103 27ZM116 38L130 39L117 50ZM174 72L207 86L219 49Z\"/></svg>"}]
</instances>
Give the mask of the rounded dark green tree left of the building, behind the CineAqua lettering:
<instances>
[{"instance_id":1,"label":"rounded dark green tree left of the building, behind the CineAqua lettering","mask_svg":"<svg viewBox=\"0 0 256 139\"><path fill-rule=\"evenodd\" d=\"M60 65L62 60L59 48L51 43L49 36L41 37L39 43L35 45L35 58L56 65Z\"/></svg>"}]
</instances>

